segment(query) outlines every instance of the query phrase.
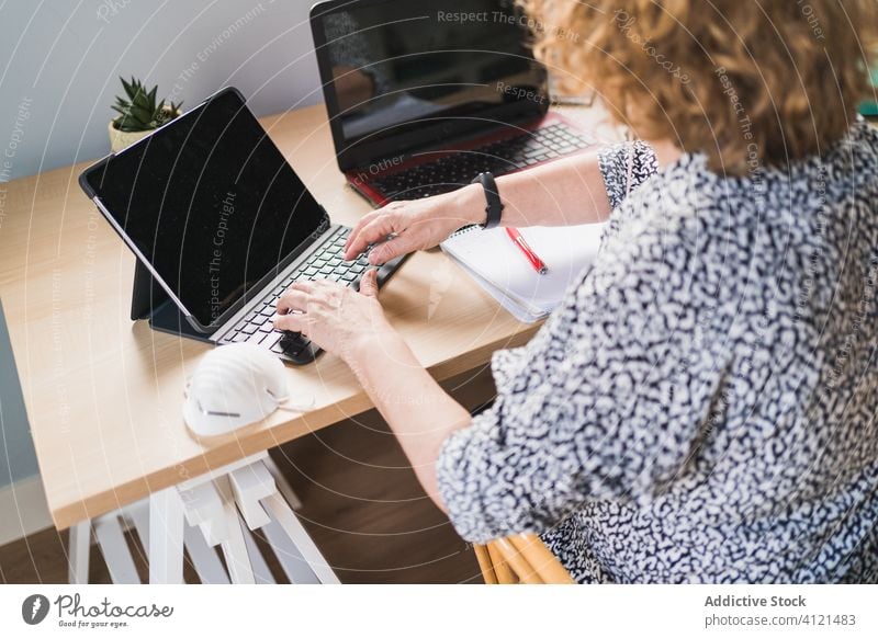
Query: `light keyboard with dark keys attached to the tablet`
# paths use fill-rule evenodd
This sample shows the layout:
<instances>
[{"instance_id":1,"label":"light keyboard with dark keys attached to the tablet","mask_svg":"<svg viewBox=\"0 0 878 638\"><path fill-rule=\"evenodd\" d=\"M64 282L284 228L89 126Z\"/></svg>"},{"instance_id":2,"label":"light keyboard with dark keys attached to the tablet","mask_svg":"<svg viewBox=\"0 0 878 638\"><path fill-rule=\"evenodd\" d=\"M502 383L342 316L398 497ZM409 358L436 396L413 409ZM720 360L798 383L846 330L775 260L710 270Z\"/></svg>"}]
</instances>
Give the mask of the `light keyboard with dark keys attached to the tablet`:
<instances>
[{"instance_id":1,"label":"light keyboard with dark keys attached to the tablet","mask_svg":"<svg viewBox=\"0 0 878 638\"><path fill-rule=\"evenodd\" d=\"M360 277L369 269L368 254L363 253L353 261L345 261L345 242L350 228L339 228L305 262L296 266L281 283L270 289L254 308L226 332L219 343L237 343L246 341L275 354L285 355L295 363L309 363L317 350L311 341L301 334L274 329L272 317L278 298L293 282L330 280L348 286L358 287Z\"/></svg>"}]
</instances>

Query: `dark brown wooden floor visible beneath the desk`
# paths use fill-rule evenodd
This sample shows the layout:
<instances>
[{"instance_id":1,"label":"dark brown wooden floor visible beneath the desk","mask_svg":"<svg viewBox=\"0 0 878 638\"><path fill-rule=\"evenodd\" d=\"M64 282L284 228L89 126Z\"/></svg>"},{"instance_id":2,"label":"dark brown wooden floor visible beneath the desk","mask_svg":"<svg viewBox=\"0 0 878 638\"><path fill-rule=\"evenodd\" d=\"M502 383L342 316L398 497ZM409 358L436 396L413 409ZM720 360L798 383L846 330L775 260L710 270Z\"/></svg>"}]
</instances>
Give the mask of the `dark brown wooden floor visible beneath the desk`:
<instances>
[{"instance_id":1,"label":"dark brown wooden floor visible beneath the desk","mask_svg":"<svg viewBox=\"0 0 878 638\"><path fill-rule=\"evenodd\" d=\"M472 409L493 397L486 371L444 384ZM420 489L403 451L374 411L271 452L303 501L299 516L346 583L481 582L472 548ZM136 535L128 535L140 579L148 568ZM67 532L54 528L0 547L0 582L67 582ZM263 551L285 582L270 550ZM188 562L188 561L187 561ZM187 582L198 582L189 565ZM110 574L92 546L89 581Z\"/></svg>"}]
</instances>

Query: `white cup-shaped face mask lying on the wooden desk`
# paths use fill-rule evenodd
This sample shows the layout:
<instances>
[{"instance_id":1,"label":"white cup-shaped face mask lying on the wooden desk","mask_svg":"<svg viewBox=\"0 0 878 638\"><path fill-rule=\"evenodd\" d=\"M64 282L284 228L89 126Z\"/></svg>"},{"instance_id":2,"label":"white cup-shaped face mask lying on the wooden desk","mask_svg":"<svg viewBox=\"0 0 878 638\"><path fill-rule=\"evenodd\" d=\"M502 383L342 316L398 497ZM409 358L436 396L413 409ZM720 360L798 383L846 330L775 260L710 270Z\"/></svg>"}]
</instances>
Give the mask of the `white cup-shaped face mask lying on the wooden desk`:
<instances>
[{"instance_id":1,"label":"white cup-shaped face mask lying on the wooden desk","mask_svg":"<svg viewBox=\"0 0 878 638\"><path fill-rule=\"evenodd\" d=\"M261 421L289 400L283 363L251 343L229 343L206 353L185 387L183 419L199 436L226 434Z\"/></svg>"}]
</instances>

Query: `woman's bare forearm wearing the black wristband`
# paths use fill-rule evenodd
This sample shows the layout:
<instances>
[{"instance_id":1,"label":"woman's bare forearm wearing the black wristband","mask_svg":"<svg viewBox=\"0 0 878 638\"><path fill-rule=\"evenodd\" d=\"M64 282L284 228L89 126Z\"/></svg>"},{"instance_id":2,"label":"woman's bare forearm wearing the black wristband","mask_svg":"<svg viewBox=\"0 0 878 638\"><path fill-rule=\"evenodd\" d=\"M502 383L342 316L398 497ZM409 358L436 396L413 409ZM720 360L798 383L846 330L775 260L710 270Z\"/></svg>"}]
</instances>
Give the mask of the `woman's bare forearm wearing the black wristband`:
<instances>
[{"instance_id":1,"label":"woman's bare forearm wearing the black wristband","mask_svg":"<svg viewBox=\"0 0 878 638\"><path fill-rule=\"evenodd\" d=\"M502 226L574 226L604 221L610 203L597 162L597 151L574 156L497 178L504 204ZM454 205L473 223L485 217L482 186L455 191Z\"/></svg>"}]
</instances>

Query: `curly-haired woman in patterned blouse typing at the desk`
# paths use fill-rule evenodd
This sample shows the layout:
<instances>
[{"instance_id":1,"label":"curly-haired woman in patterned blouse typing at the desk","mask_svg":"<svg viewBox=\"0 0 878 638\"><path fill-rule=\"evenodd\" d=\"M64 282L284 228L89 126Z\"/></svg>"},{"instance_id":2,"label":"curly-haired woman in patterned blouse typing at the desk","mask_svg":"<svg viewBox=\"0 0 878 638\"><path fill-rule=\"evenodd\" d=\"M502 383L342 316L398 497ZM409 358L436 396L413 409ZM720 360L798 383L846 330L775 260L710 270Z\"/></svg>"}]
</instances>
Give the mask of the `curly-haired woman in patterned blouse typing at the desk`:
<instances>
[{"instance_id":1,"label":"curly-haired woman in patterned blouse typing at the desk","mask_svg":"<svg viewBox=\"0 0 878 638\"><path fill-rule=\"evenodd\" d=\"M802 7L528 3L538 55L644 141L497 180L504 225L609 224L533 340L495 353L489 410L418 365L373 274L279 303L464 538L542 534L583 582L878 581L878 130L855 116L878 19ZM485 217L481 185L391 204L347 257Z\"/></svg>"}]
</instances>

